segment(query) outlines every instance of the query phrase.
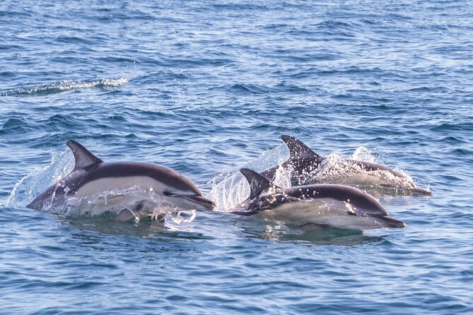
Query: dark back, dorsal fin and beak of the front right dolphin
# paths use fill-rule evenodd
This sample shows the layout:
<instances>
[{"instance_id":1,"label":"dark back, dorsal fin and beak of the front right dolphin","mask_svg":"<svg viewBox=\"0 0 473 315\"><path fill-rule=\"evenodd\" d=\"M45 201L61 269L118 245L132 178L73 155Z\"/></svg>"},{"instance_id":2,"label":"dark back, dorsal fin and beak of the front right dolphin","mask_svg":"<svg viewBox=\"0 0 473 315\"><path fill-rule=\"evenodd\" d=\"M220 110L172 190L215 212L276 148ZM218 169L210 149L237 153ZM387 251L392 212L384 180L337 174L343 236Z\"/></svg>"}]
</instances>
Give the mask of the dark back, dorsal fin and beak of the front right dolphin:
<instances>
[{"instance_id":1,"label":"dark back, dorsal fin and beak of the front right dolphin","mask_svg":"<svg viewBox=\"0 0 473 315\"><path fill-rule=\"evenodd\" d=\"M380 227L405 227L405 223L388 216L385 208L378 200L360 189L334 184L314 184L282 189L275 186L269 179L255 171L243 168L240 170L250 184L250 197L231 210L238 215L255 215L264 210L271 210L284 203L309 201L317 198L330 198L335 201L349 203L346 215L373 218ZM296 206L296 204L295 204Z\"/></svg>"}]
</instances>

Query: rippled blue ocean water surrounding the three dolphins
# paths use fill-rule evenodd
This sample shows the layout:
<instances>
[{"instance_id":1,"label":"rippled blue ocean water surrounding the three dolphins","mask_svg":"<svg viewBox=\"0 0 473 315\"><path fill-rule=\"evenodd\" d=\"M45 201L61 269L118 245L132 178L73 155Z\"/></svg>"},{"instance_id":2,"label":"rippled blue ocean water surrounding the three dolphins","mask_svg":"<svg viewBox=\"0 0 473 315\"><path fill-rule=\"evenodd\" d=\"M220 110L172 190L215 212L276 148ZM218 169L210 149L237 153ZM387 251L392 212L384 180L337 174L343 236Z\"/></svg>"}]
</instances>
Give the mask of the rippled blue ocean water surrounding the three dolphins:
<instances>
[{"instance_id":1,"label":"rippled blue ocean water surrounding the three dolphins","mask_svg":"<svg viewBox=\"0 0 473 315\"><path fill-rule=\"evenodd\" d=\"M473 313L471 1L152 2L0 4L0 313ZM433 196L380 196L407 227L363 234L24 208L69 139L211 195L281 134Z\"/></svg>"}]
</instances>

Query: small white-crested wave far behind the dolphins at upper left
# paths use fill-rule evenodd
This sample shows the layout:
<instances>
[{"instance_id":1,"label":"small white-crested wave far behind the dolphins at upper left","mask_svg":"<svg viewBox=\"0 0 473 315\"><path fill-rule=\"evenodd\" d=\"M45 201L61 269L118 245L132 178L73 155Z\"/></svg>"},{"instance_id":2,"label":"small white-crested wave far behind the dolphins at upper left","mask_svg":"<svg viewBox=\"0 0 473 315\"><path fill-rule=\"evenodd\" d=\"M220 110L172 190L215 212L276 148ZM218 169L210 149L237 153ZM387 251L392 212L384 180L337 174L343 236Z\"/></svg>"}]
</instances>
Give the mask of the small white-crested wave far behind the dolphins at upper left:
<instances>
[{"instance_id":1,"label":"small white-crested wave far behind the dolphins at upper left","mask_svg":"<svg viewBox=\"0 0 473 315\"><path fill-rule=\"evenodd\" d=\"M107 79L96 81L65 80L54 83L32 86L30 88L13 88L0 92L1 96L47 95L69 90L82 90L86 88L117 88L128 82L127 78Z\"/></svg>"}]
</instances>

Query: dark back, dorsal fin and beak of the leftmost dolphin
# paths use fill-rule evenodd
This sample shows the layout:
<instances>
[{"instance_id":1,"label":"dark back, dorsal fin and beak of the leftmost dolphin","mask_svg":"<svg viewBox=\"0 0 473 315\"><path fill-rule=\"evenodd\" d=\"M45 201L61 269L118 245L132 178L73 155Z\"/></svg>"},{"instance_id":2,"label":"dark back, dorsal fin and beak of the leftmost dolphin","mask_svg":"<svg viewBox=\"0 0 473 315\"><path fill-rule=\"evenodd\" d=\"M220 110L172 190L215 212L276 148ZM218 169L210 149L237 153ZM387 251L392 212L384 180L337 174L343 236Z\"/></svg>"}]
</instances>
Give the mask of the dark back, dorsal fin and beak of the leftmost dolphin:
<instances>
[{"instance_id":1,"label":"dark back, dorsal fin and beak of the leftmost dolphin","mask_svg":"<svg viewBox=\"0 0 473 315\"><path fill-rule=\"evenodd\" d=\"M151 179L151 182L159 187L165 187L156 193L168 198L185 201L187 204L192 203L201 210L215 208L215 203L204 198L199 188L190 179L168 167L146 162L103 162L76 141L67 141L67 145L74 154L74 170L28 203L27 208L40 210L44 206L62 205L79 189L99 179L107 179L110 184L113 184L115 179L130 179L132 187L140 184L133 182L136 178Z\"/></svg>"}]
</instances>

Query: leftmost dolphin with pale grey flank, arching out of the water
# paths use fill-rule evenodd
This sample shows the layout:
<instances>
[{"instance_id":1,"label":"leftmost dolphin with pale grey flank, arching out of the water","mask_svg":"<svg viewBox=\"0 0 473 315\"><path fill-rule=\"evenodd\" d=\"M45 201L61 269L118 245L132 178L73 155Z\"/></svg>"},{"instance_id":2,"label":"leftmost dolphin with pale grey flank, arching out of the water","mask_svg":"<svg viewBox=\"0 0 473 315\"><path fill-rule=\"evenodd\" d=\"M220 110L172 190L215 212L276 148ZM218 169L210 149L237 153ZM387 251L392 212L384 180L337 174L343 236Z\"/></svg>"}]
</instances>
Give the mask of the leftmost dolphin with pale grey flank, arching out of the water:
<instances>
[{"instance_id":1,"label":"leftmost dolphin with pale grey flank, arching out of the water","mask_svg":"<svg viewBox=\"0 0 473 315\"><path fill-rule=\"evenodd\" d=\"M81 207L83 199L110 191L122 191L122 194L112 193L101 206L104 211L117 213L117 220L127 221L152 215L153 207L159 206L139 194L124 194L123 191L127 189L152 192L170 208L215 208L215 203L204 198L190 179L168 167L146 162L103 162L76 141L67 141L67 145L74 154L74 170L28 203L28 208Z\"/></svg>"}]
</instances>

